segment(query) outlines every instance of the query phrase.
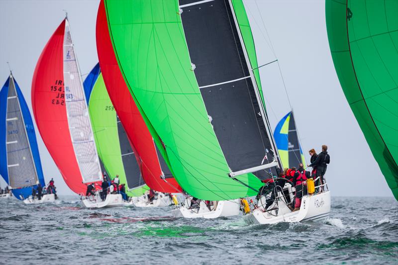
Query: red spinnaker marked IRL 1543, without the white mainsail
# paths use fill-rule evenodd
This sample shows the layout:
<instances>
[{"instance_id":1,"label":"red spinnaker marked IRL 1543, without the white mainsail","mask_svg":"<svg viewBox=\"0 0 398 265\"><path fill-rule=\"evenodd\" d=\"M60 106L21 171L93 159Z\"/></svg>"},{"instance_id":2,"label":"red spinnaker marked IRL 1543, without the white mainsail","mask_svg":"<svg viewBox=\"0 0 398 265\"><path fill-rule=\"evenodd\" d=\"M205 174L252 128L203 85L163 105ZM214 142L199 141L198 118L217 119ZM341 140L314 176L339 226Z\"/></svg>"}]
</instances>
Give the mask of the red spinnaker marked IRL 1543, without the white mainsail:
<instances>
[{"instance_id":1,"label":"red spinnaker marked IRL 1543, without the white mainsail","mask_svg":"<svg viewBox=\"0 0 398 265\"><path fill-rule=\"evenodd\" d=\"M66 184L76 193L87 186L76 160L64 99L63 45L65 21L44 47L32 80L32 107L37 128Z\"/></svg>"}]
</instances>

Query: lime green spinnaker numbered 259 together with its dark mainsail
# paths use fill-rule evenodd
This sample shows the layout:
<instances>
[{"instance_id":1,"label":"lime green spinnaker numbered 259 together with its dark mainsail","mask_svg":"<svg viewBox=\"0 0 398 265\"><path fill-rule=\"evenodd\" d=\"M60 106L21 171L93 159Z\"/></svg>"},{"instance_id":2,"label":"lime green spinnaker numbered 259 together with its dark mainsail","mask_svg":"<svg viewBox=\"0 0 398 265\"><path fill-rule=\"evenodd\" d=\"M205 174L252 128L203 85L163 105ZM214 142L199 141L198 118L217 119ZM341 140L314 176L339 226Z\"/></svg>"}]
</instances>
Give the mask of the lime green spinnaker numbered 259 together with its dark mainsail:
<instances>
[{"instance_id":1,"label":"lime green spinnaker numbered 259 together with its dark mainsail","mask_svg":"<svg viewBox=\"0 0 398 265\"><path fill-rule=\"evenodd\" d=\"M89 93L89 112L98 155L108 175L112 179L119 175L120 183L126 184L128 196L140 196L149 188L140 176L140 169L130 143L128 140L120 139L121 124L117 120L116 111L106 91L102 74L100 73L93 82L92 90L86 93ZM90 90L86 85L85 82L86 91ZM121 141L122 143L120 143ZM126 154L121 151L120 144L127 146L124 148Z\"/></svg>"}]
</instances>

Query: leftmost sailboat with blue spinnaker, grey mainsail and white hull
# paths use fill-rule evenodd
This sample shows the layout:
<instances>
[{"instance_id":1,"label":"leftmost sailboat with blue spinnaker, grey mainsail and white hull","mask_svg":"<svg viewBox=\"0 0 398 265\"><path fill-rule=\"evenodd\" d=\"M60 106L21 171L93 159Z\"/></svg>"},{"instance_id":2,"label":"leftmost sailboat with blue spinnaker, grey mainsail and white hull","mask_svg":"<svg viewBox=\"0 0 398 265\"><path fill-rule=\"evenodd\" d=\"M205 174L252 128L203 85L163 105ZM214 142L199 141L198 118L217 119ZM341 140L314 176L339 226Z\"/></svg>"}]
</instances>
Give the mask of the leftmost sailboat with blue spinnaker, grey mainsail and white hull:
<instances>
[{"instance_id":1,"label":"leftmost sailboat with blue spinnaker, grey mainsail and white hull","mask_svg":"<svg viewBox=\"0 0 398 265\"><path fill-rule=\"evenodd\" d=\"M0 90L0 122L0 175L13 195L25 203L53 202L54 194L29 200L45 182L30 111L12 73Z\"/></svg>"}]
</instances>

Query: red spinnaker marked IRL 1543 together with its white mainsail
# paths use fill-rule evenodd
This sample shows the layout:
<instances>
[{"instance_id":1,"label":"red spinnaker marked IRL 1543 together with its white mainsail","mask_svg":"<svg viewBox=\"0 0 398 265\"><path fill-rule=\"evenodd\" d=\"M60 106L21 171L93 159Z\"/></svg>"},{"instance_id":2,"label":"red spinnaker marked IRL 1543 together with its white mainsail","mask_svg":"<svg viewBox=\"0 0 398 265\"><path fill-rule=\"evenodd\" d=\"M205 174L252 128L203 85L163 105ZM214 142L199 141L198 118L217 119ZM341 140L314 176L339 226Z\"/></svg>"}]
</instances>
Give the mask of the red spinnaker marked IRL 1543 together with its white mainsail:
<instances>
[{"instance_id":1,"label":"red spinnaker marked IRL 1543 together with its white mainsail","mask_svg":"<svg viewBox=\"0 0 398 265\"><path fill-rule=\"evenodd\" d=\"M68 19L47 42L32 80L32 106L44 144L76 193L102 180Z\"/></svg>"}]
</instances>

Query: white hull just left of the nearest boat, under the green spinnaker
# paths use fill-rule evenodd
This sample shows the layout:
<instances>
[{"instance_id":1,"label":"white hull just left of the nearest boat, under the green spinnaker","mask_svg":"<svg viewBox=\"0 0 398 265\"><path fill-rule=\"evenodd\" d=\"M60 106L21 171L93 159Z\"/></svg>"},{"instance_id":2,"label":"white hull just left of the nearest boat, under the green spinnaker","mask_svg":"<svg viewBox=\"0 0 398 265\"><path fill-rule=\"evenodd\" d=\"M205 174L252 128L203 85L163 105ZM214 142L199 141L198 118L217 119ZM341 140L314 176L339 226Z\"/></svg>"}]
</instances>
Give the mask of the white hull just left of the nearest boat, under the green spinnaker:
<instances>
[{"instance_id":1,"label":"white hull just left of the nearest boat, under the green spinnaker","mask_svg":"<svg viewBox=\"0 0 398 265\"><path fill-rule=\"evenodd\" d=\"M239 201L236 200L223 200L214 202L217 203L216 208L209 210L203 201L200 201L199 209L189 209L187 200L185 205L178 206L171 212L174 217L184 217L184 218L205 218L214 219L218 217L227 217L238 215L240 212Z\"/></svg>"}]
</instances>

